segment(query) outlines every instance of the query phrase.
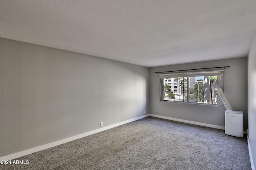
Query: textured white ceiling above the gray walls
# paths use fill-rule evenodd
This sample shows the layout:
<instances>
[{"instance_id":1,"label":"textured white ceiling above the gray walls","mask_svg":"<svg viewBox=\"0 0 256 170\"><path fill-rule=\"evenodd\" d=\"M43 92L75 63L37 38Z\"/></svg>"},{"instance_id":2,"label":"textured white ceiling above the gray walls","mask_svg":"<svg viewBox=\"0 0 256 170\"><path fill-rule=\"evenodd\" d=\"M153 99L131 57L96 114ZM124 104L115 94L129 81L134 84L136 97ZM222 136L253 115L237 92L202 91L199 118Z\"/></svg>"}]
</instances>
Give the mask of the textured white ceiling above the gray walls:
<instances>
[{"instance_id":1,"label":"textured white ceiling above the gray walls","mask_svg":"<svg viewBox=\"0 0 256 170\"><path fill-rule=\"evenodd\" d=\"M256 0L0 0L0 37L142 66L246 57Z\"/></svg>"}]
</instances>

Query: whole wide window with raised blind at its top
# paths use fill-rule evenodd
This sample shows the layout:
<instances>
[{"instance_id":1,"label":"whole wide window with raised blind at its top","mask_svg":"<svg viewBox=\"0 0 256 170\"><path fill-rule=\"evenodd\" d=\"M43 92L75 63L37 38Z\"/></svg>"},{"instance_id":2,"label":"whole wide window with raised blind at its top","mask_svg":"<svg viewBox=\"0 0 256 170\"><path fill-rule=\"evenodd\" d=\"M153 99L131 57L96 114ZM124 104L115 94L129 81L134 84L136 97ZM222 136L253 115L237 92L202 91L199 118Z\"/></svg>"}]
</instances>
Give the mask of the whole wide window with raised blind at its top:
<instances>
[{"instance_id":1,"label":"whole wide window with raised blind at its top","mask_svg":"<svg viewBox=\"0 0 256 170\"><path fill-rule=\"evenodd\" d=\"M161 101L218 104L217 88L223 87L223 70L160 75ZM169 86L175 81L176 86Z\"/></svg>"}]
</instances>

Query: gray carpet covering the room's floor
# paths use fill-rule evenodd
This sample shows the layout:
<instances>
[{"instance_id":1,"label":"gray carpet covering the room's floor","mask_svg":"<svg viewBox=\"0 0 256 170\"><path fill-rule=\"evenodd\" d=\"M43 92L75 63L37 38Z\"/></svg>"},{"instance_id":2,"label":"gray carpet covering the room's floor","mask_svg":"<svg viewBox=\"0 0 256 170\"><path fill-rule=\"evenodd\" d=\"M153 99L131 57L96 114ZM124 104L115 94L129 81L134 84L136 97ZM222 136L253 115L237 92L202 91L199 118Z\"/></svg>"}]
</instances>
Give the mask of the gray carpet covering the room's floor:
<instances>
[{"instance_id":1,"label":"gray carpet covering the room's floor","mask_svg":"<svg viewBox=\"0 0 256 170\"><path fill-rule=\"evenodd\" d=\"M22 156L0 169L250 170L246 139L223 130L146 117Z\"/></svg>"}]
</instances>

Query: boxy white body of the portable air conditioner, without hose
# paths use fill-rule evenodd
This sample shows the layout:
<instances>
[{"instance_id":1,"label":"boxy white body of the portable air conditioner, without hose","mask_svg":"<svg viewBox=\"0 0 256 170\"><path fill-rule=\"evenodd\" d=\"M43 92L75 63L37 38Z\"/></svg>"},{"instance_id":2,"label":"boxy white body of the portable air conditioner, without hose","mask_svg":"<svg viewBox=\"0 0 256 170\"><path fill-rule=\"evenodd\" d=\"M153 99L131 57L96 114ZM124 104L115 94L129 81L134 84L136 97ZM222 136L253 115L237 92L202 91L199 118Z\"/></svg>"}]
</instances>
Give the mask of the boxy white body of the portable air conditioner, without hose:
<instances>
[{"instance_id":1,"label":"boxy white body of the portable air conditioner, without hose","mask_svg":"<svg viewBox=\"0 0 256 170\"><path fill-rule=\"evenodd\" d=\"M243 112L242 111L225 111L225 134L236 137L243 137Z\"/></svg>"}]
</instances>

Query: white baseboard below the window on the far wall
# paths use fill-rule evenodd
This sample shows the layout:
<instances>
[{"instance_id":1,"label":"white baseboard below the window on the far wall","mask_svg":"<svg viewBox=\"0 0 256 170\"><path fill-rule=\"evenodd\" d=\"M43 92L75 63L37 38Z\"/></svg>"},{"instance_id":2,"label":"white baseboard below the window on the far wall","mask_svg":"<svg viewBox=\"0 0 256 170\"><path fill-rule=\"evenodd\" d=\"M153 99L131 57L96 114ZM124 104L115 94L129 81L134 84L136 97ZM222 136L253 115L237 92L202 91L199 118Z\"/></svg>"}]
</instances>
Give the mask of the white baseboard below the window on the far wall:
<instances>
[{"instance_id":1,"label":"white baseboard below the window on the far wall","mask_svg":"<svg viewBox=\"0 0 256 170\"><path fill-rule=\"evenodd\" d=\"M215 128L215 129L225 130L224 126L211 125L211 124L207 124L207 123L200 123L200 122L196 122L196 121L176 119L176 118L172 118L172 117L166 117L166 116L160 116L160 115L154 115L154 114L149 114L149 116L158 117L158 118L162 118L162 119L173 120L173 121L179 121L179 122L183 122L183 123L189 123L189 124L192 124L192 125L200 125L200 126L212 127L212 128Z\"/></svg>"}]
</instances>

